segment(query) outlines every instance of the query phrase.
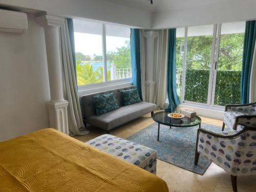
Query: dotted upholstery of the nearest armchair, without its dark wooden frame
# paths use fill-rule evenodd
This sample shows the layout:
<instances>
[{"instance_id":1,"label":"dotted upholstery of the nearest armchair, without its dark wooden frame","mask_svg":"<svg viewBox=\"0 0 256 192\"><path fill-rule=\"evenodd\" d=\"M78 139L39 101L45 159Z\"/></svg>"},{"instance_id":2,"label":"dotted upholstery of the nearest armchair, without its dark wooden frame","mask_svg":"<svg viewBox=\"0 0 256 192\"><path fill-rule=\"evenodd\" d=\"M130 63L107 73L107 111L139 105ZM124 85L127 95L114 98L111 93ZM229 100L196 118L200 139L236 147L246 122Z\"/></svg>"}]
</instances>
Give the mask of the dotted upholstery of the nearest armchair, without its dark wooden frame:
<instances>
[{"instance_id":1,"label":"dotted upholstery of the nearest armchair, without its dark wooden frame","mask_svg":"<svg viewBox=\"0 0 256 192\"><path fill-rule=\"evenodd\" d=\"M218 134L234 135L238 131ZM256 174L256 132L246 131L238 137L218 138L199 133L198 152L233 176Z\"/></svg>"}]
</instances>

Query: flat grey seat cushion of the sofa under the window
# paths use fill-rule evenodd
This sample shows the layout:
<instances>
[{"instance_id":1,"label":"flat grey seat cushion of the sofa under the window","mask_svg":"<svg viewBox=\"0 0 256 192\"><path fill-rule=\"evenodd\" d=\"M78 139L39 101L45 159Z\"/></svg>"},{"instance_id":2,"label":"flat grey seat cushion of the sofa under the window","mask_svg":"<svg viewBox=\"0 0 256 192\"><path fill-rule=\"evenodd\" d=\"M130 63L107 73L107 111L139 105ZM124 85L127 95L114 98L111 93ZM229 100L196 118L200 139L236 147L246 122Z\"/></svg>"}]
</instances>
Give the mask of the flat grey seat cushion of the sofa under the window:
<instances>
[{"instance_id":1,"label":"flat grey seat cushion of the sofa under the window","mask_svg":"<svg viewBox=\"0 0 256 192\"><path fill-rule=\"evenodd\" d=\"M148 102L138 102L97 116L93 115L87 122L104 130L111 130L123 123L129 122L141 115L150 113L156 109L156 104Z\"/></svg>"}]
</instances>

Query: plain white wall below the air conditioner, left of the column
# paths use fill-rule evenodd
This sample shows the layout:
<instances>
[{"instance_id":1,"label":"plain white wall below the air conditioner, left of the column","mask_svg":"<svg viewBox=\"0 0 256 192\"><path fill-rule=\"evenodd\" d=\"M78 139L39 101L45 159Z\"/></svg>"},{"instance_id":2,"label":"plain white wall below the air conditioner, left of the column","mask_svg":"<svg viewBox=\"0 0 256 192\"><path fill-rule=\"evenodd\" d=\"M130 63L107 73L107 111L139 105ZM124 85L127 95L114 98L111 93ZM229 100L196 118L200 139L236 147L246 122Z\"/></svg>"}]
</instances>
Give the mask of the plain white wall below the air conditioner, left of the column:
<instances>
[{"instance_id":1,"label":"plain white wall below the air conditioner, left of the column","mask_svg":"<svg viewBox=\"0 0 256 192\"><path fill-rule=\"evenodd\" d=\"M29 17L22 35L0 33L0 141L49 127L44 29Z\"/></svg>"}]
</instances>

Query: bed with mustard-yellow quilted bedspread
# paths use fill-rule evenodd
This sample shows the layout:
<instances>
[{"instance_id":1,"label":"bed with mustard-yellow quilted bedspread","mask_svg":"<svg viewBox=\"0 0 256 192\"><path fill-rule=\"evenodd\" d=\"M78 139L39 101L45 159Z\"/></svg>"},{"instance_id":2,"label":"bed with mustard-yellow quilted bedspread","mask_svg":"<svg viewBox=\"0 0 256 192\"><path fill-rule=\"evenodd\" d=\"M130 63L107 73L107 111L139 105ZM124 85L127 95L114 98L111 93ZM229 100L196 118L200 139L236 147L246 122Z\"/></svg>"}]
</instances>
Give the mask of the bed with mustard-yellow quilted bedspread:
<instances>
[{"instance_id":1,"label":"bed with mustard-yellow quilted bedspread","mask_svg":"<svg viewBox=\"0 0 256 192\"><path fill-rule=\"evenodd\" d=\"M0 142L0 191L168 191L159 177L54 129Z\"/></svg>"}]
</instances>

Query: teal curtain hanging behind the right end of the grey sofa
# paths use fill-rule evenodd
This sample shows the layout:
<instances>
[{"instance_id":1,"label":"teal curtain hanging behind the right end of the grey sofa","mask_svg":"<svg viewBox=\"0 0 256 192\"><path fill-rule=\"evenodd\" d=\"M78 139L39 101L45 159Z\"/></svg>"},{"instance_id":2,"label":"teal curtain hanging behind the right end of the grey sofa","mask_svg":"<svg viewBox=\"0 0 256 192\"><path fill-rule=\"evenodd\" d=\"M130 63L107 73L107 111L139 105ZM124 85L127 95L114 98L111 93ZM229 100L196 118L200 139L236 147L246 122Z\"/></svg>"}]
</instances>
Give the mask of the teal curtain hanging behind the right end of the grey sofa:
<instances>
[{"instance_id":1,"label":"teal curtain hanging behind the right end of the grey sofa","mask_svg":"<svg viewBox=\"0 0 256 192\"><path fill-rule=\"evenodd\" d=\"M131 29L131 59L132 59L132 79L133 84L138 88L141 95L141 68L140 68L140 31Z\"/></svg>"}]
</instances>

